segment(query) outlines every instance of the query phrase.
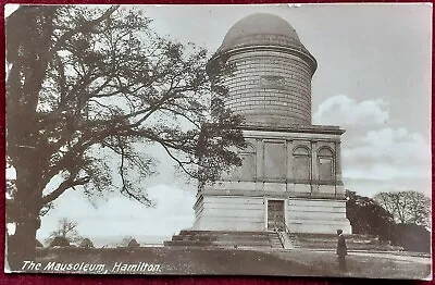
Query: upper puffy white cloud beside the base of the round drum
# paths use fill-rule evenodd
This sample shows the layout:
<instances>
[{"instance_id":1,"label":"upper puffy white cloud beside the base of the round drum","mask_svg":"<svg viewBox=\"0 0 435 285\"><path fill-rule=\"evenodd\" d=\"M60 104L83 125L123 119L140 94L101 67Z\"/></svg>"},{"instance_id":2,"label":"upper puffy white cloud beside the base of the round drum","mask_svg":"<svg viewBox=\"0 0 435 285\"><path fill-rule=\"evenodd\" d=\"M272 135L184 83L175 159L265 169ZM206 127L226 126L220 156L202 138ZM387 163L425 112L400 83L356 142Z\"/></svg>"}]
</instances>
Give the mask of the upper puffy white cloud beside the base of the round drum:
<instances>
[{"instance_id":1,"label":"upper puffy white cloud beside the base of the round drum","mask_svg":"<svg viewBox=\"0 0 435 285\"><path fill-rule=\"evenodd\" d=\"M383 125L388 119L388 103L383 99L357 102L346 95L330 97L313 115L315 124L339 126Z\"/></svg>"}]
</instances>

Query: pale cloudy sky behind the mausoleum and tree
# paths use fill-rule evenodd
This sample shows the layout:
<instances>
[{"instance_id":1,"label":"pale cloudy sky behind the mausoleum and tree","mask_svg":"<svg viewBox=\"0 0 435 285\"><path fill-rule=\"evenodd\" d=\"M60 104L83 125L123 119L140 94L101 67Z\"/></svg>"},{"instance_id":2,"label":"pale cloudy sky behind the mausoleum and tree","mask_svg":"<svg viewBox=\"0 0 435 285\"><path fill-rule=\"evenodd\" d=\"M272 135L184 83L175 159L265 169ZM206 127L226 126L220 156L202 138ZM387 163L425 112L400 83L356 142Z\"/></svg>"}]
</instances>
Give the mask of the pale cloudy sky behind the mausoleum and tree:
<instances>
[{"instance_id":1,"label":"pale cloudy sky behind the mausoleum and tree","mask_svg":"<svg viewBox=\"0 0 435 285\"><path fill-rule=\"evenodd\" d=\"M281 4L142 7L159 34L213 53L243 17L262 12L286 20L319 63L312 80L313 123L338 125L345 187L360 195L419 190L431 195L432 5ZM12 11L12 7L7 7ZM71 190L42 219L38 237L60 218L84 236L165 235L194 222L196 187L172 178L163 152L146 208L111 195L94 203ZM171 199L167 199L171 197ZM79 211L77 211L77 209ZM109 218L109 219L107 219Z\"/></svg>"}]
</instances>

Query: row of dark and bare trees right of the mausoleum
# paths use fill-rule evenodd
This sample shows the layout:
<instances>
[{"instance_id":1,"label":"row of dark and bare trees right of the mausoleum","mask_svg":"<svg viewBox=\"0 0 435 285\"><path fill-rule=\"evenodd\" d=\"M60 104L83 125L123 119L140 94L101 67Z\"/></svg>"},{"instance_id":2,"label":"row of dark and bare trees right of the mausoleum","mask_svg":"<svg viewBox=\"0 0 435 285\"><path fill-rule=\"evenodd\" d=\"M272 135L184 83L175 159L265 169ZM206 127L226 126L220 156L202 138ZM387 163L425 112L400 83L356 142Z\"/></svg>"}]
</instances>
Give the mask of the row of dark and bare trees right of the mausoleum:
<instances>
[{"instance_id":1,"label":"row of dark and bare trees right of the mausoleum","mask_svg":"<svg viewBox=\"0 0 435 285\"><path fill-rule=\"evenodd\" d=\"M405 250L431 250L431 199L423 194L390 191L370 198L346 190L346 199L353 234L376 236Z\"/></svg>"}]
</instances>

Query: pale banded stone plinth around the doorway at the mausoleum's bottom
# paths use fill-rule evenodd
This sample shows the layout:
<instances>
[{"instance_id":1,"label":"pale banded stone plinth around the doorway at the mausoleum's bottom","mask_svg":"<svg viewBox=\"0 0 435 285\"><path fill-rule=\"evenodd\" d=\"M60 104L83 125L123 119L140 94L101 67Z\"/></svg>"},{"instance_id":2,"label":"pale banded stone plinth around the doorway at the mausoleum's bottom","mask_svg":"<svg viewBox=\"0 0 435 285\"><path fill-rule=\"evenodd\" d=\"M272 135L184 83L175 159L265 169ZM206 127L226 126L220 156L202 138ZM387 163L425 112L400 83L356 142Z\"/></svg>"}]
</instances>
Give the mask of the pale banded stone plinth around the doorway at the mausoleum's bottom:
<instances>
[{"instance_id":1,"label":"pale banded stone plinth around the doorway at the mausoleum's bottom","mask_svg":"<svg viewBox=\"0 0 435 285\"><path fill-rule=\"evenodd\" d=\"M275 195L274 195L275 196ZM194 207L194 231L268 231L268 193L248 195L199 195ZM291 233L335 234L340 228L351 234L346 219L346 200L279 198L284 219Z\"/></svg>"}]
</instances>

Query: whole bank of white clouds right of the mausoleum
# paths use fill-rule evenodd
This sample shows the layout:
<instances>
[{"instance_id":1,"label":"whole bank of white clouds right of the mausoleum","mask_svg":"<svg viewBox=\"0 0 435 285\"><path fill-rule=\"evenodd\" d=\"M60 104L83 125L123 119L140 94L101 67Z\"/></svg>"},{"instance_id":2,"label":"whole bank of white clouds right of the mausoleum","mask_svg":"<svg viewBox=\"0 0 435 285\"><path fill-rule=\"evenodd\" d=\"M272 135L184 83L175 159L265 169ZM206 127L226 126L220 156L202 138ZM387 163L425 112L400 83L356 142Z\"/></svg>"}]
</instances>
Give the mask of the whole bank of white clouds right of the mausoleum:
<instances>
[{"instance_id":1,"label":"whole bank of white clouds right of the mausoleum","mask_svg":"<svg viewBox=\"0 0 435 285\"><path fill-rule=\"evenodd\" d=\"M313 115L321 125L338 125L345 186L362 195L381 190L431 190L431 146L419 133L397 127L388 102L357 102L345 95L323 101ZM394 121L394 122L393 122Z\"/></svg>"}]
</instances>

